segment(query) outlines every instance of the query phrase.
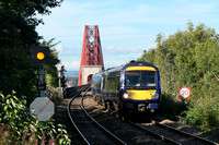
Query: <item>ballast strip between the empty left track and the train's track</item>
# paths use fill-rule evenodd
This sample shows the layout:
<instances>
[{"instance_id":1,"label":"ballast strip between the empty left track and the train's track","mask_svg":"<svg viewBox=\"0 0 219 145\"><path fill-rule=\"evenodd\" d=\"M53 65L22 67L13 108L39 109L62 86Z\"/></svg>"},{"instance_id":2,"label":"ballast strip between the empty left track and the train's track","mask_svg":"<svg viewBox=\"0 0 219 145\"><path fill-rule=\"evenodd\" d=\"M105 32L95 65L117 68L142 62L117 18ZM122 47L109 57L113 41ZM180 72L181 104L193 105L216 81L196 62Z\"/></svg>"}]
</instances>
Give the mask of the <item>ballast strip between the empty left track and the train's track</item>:
<instances>
[{"instance_id":1,"label":"ballast strip between the empty left track and the train's track","mask_svg":"<svg viewBox=\"0 0 219 145\"><path fill-rule=\"evenodd\" d=\"M114 133L116 136L122 138L128 144L147 144L147 145L162 145L165 144L149 133L136 129L126 121L116 119L114 116L106 113L103 106L97 105L96 101L89 95L84 99L84 107L87 111L104 128Z\"/></svg>"}]
</instances>

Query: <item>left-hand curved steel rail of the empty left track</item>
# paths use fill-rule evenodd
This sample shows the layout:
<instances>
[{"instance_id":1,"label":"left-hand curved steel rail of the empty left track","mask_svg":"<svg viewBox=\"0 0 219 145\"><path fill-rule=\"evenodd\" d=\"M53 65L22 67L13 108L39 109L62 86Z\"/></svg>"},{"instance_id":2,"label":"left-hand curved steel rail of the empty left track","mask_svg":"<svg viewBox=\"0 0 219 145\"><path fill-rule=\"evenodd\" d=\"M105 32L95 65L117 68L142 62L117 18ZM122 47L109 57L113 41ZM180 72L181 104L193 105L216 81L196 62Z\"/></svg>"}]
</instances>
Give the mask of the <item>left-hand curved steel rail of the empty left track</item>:
<instances>
[{"instance_id":1,"label":"left-hand curved steel rail of the empty left track","mask_svg":"<svg viewBox=\"0 0 219 145\"><path fill-rule=\"evenodd\" d=\"M85 87L85 88L84 88ZM89 141L85 138L85 136L82 134L82 132L78 129L78 126L76 125L72 117L71 117L71 111L70 111L70 106L71 106L71 102L73 101L73 99L79 95L81 94L81 92L83 92L84 89L87 89L87 86L82 87L81 89L78 90L77 94L74 94L74 96L71 98L71 100L69 101L68 106L67 106L67 111L68 111L68 116L69 116L69 119L71 120L71 123L73 124L73 126L77 129L77 131L79 132L79 134L81 135L81 137L84 140L84 142L90 145Z\"/></svg>"}]
</instances>

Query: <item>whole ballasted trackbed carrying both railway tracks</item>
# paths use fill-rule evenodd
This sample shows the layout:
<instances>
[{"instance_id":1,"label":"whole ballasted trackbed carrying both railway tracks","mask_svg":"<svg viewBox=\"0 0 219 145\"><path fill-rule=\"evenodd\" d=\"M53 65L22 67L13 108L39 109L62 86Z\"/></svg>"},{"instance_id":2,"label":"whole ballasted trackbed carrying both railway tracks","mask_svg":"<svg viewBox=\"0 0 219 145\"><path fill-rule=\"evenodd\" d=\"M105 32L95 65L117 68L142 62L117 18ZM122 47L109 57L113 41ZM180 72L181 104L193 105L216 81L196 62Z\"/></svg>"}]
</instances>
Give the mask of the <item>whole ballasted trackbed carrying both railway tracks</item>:
<instances>
[{"instance_id":1,"label":"whole ballasted trackbed carrying both railway tracks","mask_svg":"<svg viewBox=\"0 0 219 145\"><path fill-rule=\"evenodd\" d=\"M87 93L81 93L83 89L80 88L80 90L77 90L77 94L71 94L73 97L68 105L68 114L80 136L82 136L84 144L166 143L177 145L218 145L211 141L175 130L157 121L152 121L151 123L134 123L118 120L114 116L105 113L106 111L102 109L102 106L94 105L95 101L92 102L93 98L91 96L88 97ZM84 98L84 96L87 97ZM83 106L84 99L85 109ZM99 110L99 112L94 110Z\"/></svg>"}]
</instances>

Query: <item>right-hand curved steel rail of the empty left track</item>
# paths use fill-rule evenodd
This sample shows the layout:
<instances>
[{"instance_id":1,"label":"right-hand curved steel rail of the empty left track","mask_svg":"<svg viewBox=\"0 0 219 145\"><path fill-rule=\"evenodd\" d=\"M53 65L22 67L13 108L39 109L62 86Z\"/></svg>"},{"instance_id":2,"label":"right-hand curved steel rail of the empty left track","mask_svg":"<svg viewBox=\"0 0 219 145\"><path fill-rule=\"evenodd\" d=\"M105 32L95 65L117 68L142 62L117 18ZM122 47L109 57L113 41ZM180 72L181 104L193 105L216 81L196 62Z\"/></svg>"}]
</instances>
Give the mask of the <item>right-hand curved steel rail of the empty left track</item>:
<instances>
[{"instance_id":1,"label":"right-hand curved steel rail of the empty left track","mask_svg":"<svg viewBox=\"0 0 219 145\"><path fill-rule=\"evenodd\" d=\"M110 137L112 137L117 144L122 144L122 145L127 145L124 141L122 141L120 138L118 138L116 135L114 135L112 132L110 132L107 129L105 129L103 125L101 125L95 119L93 119L88 111L85 110L84 106L83 106L83 98L84 98L85 94L82 96L81 98L81 108L83 109L83 111L85 112L85 114L99 126L101 128L104 133L106 133L106 135L108 135Z\"/></svg>"}]
</instances>

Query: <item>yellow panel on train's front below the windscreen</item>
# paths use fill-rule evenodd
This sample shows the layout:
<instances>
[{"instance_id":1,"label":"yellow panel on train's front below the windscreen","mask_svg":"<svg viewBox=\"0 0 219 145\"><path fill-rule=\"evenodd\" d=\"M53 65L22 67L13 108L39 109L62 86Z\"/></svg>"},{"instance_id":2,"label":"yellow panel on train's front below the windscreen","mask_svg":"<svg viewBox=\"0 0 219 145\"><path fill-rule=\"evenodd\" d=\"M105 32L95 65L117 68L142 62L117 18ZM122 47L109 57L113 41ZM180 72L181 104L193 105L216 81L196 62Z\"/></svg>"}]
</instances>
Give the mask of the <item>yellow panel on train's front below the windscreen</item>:
<instances>
[{"instance_id":1,"label":"yellow panel on train's front below the windscreen","mask_svg":"<svg viewBox=\"0 0 219 145\"><path fill-rule=\"evenodd\" d=\"M150 100L151 96L155 94L154 90L127 90L132 100Z\"/></svg>"}]
</instances>

